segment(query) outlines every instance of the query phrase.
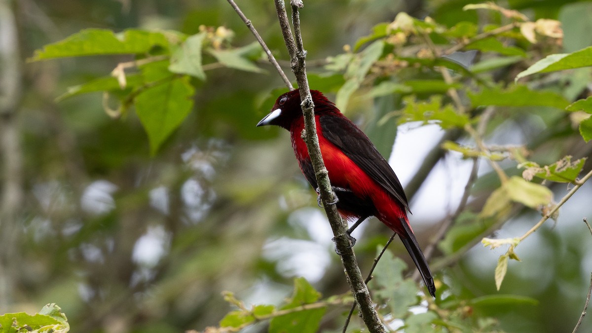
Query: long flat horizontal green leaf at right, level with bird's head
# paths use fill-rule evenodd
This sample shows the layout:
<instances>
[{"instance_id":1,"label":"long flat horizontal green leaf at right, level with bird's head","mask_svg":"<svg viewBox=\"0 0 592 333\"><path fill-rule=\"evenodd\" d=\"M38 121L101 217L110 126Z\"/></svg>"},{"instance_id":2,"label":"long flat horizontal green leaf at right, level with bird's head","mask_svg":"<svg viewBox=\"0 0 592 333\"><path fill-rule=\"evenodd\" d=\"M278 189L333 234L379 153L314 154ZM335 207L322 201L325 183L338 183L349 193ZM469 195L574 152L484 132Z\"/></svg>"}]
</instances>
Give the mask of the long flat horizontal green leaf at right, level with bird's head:
<instances>
[{"instance_id":1,"label":"long flat horizontal green leaf at right, level with bird's head","mask_svg":"<svg viewBox=\"0 0 592 333\"><path fill-rule=\"evenodd\" d=\"M533 91L525 85L515 85L508 89L501 87L484 88L474 94L468 92L474 106L497 105L508 107L548 106L564 109L570 104L564 97L552 91Z\"/></svg>"}]
</instances>

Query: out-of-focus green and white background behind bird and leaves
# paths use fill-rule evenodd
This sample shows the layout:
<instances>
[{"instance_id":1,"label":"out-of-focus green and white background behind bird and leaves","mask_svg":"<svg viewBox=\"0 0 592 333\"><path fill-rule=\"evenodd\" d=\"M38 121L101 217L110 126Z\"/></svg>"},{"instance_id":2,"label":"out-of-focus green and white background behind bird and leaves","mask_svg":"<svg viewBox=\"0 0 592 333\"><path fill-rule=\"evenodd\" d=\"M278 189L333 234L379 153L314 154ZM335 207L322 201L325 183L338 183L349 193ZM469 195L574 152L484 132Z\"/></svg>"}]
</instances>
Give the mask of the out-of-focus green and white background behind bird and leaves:
<instances>
[{"instance_id":1,"label":"out-of-focus green and white background behind bird and leaves","mask_svg":"<svg viewBox=\"0 0 592 333\"><path fill-rule=\"evenodd\" d=\"M330 79L320 75L326 72L323 65L328 62L327 57L334 57L329 63L339 66L337 55L351 54L348 52L356 47L356 41L371 35L375 25L392 22L399 12L420 19L429 16L446 27L461 21L480 28L507 23L495 12L462 10L473 2L305 2L301 20L311 87L326 88L323 90L334 99L345 79L342 75ZM205 81L192 78L193 110L151 155L149 139L136 113L112 119L105 113L104 104L111 105L113 101L105 102L99 93L56 102L68 87L105 76L118 63L133 57L24 61L33 56L34 50L85 28L163 29L195 34L203 31L200 27L204 26L226 27L234 33L233 46L252 43L252 35L226 1L1 3L4 11L8 9L14 17L18 37L15 52L20 60L12 68L17 72L12 82L18 85L10 100L13 111L0 114L4 140L0 151L0 190L4 200L0 212L0 313L33 313L44 304L55 302L62 307L75 332L179 332L217 326L233 309L221 295L224 290L230 290L247 304L278 304L292 294L292 279L304 276L325 297L348 291L339 258L333 252L332 235L328 226L323 225L316 195L307 187L294 161L287 133L255 127L268 113L276 95L285 91L268 63L258 61L263 73L218 68L207 71ZM516 38L516 45L504 45L509 50L504 55L522 57L490 69L482 80L511 86L516 74L535 60L549 53L574 52L592 42L590 1L497 3L517 9L533 21L561 21L564 39L562 44L530 46L526 40ZM289 72L273 2L253 0L239 5ZM10 33L5 25L0 27L0 34ZM496 59L502 50L496 52L495 56L484 52L479 55L480 60ZM3 76L9 72L6 65L1 69ZM387 97L369 88L393 74L397 79L391 80L403 84L442 78L436 71L413 66L397 71L373 70L378 71L373 73L379 79L371 84L366 82L367 89L362 90L374 92L375 97L354 94L346 98L346 114L361 124L388 156L397 130L395 119L384 116L414 101L404 97L408 92L398 88ZM379 73L381 70L388 75ZM434 93L446 96L448 86L433 81L433 87L410 88L417 100L429 100ZM459 81L455 88L462 92L464 84ZM537 76L529 87L554 91L570 102L585 98L590 94L590 68ZM443 103L451 103L444 98ZM542 105L548 104L552 103ZM551 164L565 155L574 159L590 156L592 146L582 140L570 114L557 107L529 105L498 105L485 132L487 144L524 146L530 151L528 159L540 165ZM404 132L420 131L417 127L419 124L414 123ZM440 223L455 210L469 173L468 161L460 153L439 150L439 131L439 127L435 129L436 139L432 140L411 137L400 143L397 137L399 143L395 143L394 157L391 156L395 165L417 166L413 171L417 171L416 177L410 174L401 178L407 185L411 210L416 213L411 223L422 245L430 242ZM461 133L447 133L451 140L471 144ZM434 137L433 133L430 136ZM11 138L17 140L9 142ZM397 155L397 144L404 145L401 150L407 153L422 151L423 155ZM430 164L425 154L432 147L436 147L437 154ZM419 168L422 163L428 167ZM461 165L464 167L456 168ZM501 165L509 175L521 172L516 161L504 161ZM584 172L589 169L590 162L584 166ZM395 171L399 172L396 167ZM426 180L439 187L432 185L422 190ZM461 183L461 191L449 189L456 181ZM547 185L554 191L555 201L566 193L565 184ZM539 220L538 213L514 207L504 219L500 218L506 222L503 228L502 223L491 222L485 227L475 226L483 223L476 218L477 213L498 186L495 173L482 162L468 208L456 220L458 228L452 229L436 249L433 262L450 258L459 248L480 241L482 236L521 235ZM435 193L426 196L422 191ZM517 249L523 261L509 265L500 293L530 297L538 301L536 305L481 302L480 306L472 306L469 302L498 293L494 268L497 257L503 254L501 250L476 245L450 264L436 264L440 287L453 295L456 302L455 310L450 312L458 316L455 320L493 318L496 330L509 332L571 331L583 308L592 270L592 237L581 222L583 217L591 217L590 196L592 190L587 184L562 207L555 226L547 222ZM493 236L492 225L501 228ZM363 235L356 236L355 247L362 271L368 270L376 246L384 244L388 236L387 228L375 220L366 222ZM392 244L391 249L407 260L403 246ZM348 309L349 306L331 308L323 317L321 329L339 328L343 312ZM439 316L448 313L440 310ZM477 326L483 331L492 327L491 322L481 324ZM265 325L256 326L253 331L266 329ZM356 327L352 325L352 329ZM581 331L591 329L590 322L585 321Z\"/></svg>"}]
</instances>

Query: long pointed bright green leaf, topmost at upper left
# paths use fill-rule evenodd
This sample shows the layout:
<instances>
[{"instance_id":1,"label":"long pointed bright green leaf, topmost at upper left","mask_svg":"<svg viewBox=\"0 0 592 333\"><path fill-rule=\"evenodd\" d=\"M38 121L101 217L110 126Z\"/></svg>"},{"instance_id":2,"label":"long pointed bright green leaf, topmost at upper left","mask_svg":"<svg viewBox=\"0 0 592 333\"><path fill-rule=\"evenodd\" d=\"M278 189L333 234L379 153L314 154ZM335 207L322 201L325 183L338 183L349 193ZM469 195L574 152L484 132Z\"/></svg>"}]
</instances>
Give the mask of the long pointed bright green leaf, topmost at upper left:
<instances>
[{"instance_id":1,"label":"long pointed bright green leaf, topmost at upper left","mask_svg":"<svg viewBox=\"0 0 592 333\"><path fill-rule=\"evenodd\" d=\"M30 60L147 53L155 46L169 47L169 41L163 33L130 29L115 34L111 30L85 29L62 41L46 45L43 50L36 50Z\"/></svg>"}]
</instances>

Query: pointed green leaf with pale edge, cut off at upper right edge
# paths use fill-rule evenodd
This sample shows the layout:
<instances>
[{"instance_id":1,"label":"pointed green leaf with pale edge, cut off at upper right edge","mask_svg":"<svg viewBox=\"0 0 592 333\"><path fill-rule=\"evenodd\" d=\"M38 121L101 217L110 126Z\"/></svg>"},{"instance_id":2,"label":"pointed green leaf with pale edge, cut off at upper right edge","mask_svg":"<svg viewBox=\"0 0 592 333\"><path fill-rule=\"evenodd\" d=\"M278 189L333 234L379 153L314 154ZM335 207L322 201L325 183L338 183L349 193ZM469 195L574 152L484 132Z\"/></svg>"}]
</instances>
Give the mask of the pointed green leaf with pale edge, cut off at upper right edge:
<instances>
[{"instance_id":1,"label":"pointed green leaf with pale edge, cut off at upper right edge","mask_svg":"<svg viewBox=\"0 0 592 333\"><path fill-rule=\"evenodd\" d=\"M534 73L546 73L554 71L563 71L580 67L592 66L592 46L578 50L572 53L561 53L546 56L534 65L516 75L516 81Z\"/></svg>"}]
</instances>

